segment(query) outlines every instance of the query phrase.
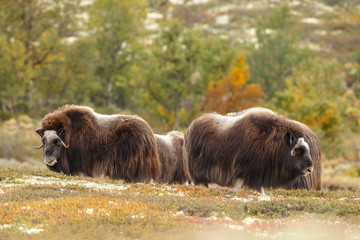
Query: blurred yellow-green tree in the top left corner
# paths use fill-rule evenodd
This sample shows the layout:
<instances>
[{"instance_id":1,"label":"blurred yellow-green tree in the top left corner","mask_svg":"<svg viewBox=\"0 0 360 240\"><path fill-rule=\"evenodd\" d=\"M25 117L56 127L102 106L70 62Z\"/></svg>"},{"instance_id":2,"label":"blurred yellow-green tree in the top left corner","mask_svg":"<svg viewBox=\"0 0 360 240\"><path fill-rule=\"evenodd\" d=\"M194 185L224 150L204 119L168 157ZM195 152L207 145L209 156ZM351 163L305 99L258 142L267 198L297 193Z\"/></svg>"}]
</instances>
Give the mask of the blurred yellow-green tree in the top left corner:
<instances>
[{"instance_id":1,"label":"blurred yellow-green tree in the top left corner","mask_svg":"<svg viewBox=\"0 0 360 240\"><path fill-rule=\"evenodd\" d=\"M47 105L44 98L48 97L51 90L61 85L63 79L60 79L61 75L56 74L63 64L61 40L75 35L78 29L80 21L75 21L75 16L79 11L79 2L0 2L0 34L5 36L8 43L16 43L16 51L18 54L21 52L18 58L22 59L27 69L26 76L21 75L19 78L22 82L19 92L25 91L25 94L18 95L15 111L33 113L34 109L39 109L39 105ZM42 87L46 78L52 80L47 86L53 88ZM53 83L56 83L55 86Z\"/></svg>"}]
</instances>

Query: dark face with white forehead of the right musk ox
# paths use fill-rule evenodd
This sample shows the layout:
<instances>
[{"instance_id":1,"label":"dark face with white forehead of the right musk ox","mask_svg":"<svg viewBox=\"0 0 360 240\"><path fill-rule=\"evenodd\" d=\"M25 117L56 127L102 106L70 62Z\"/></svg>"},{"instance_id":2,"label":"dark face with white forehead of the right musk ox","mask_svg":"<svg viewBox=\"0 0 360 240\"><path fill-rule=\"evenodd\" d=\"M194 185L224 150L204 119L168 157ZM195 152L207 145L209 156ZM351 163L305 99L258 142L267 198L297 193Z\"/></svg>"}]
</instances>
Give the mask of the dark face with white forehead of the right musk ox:
<instances>
[{"instance_id":1,"label":"dark face with white forehead of the right musk ox","mask_svg":"<svg viewBox=\"0 0 360 240\"><path fill-rule=\"evenodd\" d=\"M302 137L296 139L292 134L287 134L286 142L291 150L287 154L285 163L289 165L294 176L310 174L313 171L313 161L305 139Z\"/></svg>"}]
</instances>

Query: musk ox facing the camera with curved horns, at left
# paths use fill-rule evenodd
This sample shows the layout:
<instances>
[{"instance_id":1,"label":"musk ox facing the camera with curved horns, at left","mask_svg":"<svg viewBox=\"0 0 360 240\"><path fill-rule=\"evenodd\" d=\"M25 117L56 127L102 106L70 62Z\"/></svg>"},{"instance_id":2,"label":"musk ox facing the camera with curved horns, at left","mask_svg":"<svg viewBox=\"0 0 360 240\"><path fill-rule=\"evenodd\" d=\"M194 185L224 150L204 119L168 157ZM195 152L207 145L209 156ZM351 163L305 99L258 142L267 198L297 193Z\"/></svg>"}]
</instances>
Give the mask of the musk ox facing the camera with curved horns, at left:
<instances>
[{"instance_id":1,"label":"musk ox facing the camera with curved horns, at left","mask_svg":"<svg viewBox=\"0 0 360 240\"><path fill-rule=\"evenodd\" d=\"M102 115L65 105L42 119L47 167L65 174L108 176L127 182L158 181L161 176L154 134L138 116Z\"/></svg>"}]
</instances>

